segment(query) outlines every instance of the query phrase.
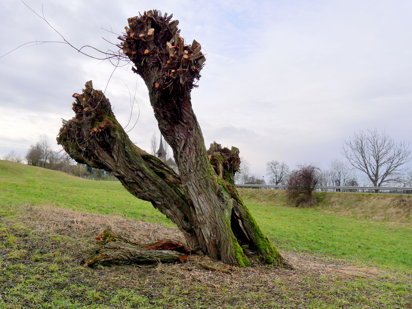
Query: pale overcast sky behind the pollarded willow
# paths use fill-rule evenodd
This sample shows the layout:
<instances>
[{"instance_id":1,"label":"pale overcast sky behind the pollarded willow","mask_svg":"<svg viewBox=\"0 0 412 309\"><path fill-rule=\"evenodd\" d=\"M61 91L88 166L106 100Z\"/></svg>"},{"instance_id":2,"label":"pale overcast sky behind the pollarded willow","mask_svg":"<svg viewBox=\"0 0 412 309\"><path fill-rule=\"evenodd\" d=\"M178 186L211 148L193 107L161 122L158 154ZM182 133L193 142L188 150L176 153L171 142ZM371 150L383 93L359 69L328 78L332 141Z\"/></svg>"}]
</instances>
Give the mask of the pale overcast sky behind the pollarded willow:
<instances>
[{"instance_id":1,"label":"pale overcast sky behind the pollarded willow","mask_svg":"<svg viewBox=\"0 0 412 309\"><path fill-rule=\"evenodd\" d=\"M270 160L290 166L340 157L343 138L386 129L411 139L411 1L110 1L26 0L71 44L102 50L117 43L127 18L159 9L179 19L181 34L207 54L192 104L206 145L239 147L251 170ZM19 0L0 3L0 56L31 41L61 41ZM106 30L104 30L106 29ZM90 49L85 52L96 55ZM74 92L93 80L105 89L128 134L150 151L159 134L147 89L130 67L91 59L66 44L21 47L0 58L0 155L24 153L61 119L74 116ZM110 75L112 79L108 83ZM126 128L130 128L130 125ZM56 145L56 149L59 146Z\"/></svg>"}]
</instances>

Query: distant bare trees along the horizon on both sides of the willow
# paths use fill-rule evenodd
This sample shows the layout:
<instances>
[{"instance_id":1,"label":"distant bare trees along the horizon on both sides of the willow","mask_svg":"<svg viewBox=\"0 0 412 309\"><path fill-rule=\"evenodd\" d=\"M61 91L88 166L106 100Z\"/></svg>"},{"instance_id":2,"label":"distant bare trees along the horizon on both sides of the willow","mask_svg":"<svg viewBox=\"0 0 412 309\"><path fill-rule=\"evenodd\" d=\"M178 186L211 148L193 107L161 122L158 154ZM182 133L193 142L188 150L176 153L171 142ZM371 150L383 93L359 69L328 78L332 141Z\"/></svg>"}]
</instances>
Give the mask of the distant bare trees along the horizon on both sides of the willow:
<instances>
[{"instance_id":1,"label":"distant bare trees along the horizon on both sides of the willow","mask_svg":"<svg viewBox=\"0 0 412 309\"><path fill-rule=\"evenodd\" d=\"M344 159L332 159L328 169L321 169L317 164L297 164L290 171L285 162L272 160L266 163L266 180L257 173L250 172L250 164L241 158L241 169L235 175L239 184L271 184L291 185L296 183L296 175L302 173L308 166L313 168L313 177L319 186L381 187L392 185L412 187L412 169L409 143L396 143L385 131L379 133L376 129L354 133L342 144ZM153 134L151 152L155 153L157 138ZM165 143L164 148L168 148ZM17 163L39 166L73 174L75 176L104 177L103 170L92 169L91 166L80 166L63 150L53 150L52 143L46 134L39 136L36 143L31 144L26 155L14 150L4 155L2 159ZM110 178L110 174L106 174ZM111 178L110 178L111 179Z\"/></svg>"}]
</instances>

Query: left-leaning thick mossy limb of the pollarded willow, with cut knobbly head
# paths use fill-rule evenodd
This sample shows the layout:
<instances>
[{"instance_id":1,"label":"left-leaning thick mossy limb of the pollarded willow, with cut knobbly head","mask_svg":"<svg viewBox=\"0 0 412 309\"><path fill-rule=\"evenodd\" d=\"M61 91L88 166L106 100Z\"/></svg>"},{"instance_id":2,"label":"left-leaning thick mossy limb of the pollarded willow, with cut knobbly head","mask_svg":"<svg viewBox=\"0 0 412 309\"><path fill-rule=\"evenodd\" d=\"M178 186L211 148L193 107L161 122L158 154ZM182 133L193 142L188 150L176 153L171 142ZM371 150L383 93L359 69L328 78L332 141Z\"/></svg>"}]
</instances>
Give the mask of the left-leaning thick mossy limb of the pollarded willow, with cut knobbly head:
<instances>
[{"instance_id":1,"label":"left-leaning thick mossy limb of the pollarded willow, with cut knobbly head","mask_svg":"<svg viewBox=\"0 0 412 309\"><path fill-rule=\"evenodd\" d=\"M131 194L150 201L171 219L184 233L188 246L196 247L202 234L179 175L131 142L109 100L101 90L93 89L91 81L82 94L73 97L76 116L63 122L57 142L77 162L112 172Z\"/></svg>"}]
</instances>

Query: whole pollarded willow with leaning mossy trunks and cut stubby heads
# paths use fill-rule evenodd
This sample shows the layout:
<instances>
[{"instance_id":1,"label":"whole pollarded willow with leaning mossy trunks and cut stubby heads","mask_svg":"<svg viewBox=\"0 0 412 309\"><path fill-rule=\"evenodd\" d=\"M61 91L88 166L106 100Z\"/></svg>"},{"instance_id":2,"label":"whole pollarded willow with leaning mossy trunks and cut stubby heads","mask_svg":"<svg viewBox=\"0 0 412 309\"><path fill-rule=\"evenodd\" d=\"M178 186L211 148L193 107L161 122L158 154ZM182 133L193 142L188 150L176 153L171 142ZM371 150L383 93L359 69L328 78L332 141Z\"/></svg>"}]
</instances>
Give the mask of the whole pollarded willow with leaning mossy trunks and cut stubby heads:
<instances>
[{"instance_id":1,"label":"whole pollarded willow with leaning mossy trunks and cut stubby heads","mask_svg":"<svg viewBox=\"0 0 412 309\"><path fill-rule=\"evenodd\" d=\"M77 162L111 171L131 194L150 201L179 227L190 248L229 265L249 265L246 255L258 254L267 263L291 267L234 186L239 150L217 143L206 150L190 99L205 56L195 40L185 44L178 20L171 18L157 10L129 18L118 46L147 86L179 174L129 140L91 81L73 95L76 115L63 122L57 140Z\"/></svg>"}]
</instances>

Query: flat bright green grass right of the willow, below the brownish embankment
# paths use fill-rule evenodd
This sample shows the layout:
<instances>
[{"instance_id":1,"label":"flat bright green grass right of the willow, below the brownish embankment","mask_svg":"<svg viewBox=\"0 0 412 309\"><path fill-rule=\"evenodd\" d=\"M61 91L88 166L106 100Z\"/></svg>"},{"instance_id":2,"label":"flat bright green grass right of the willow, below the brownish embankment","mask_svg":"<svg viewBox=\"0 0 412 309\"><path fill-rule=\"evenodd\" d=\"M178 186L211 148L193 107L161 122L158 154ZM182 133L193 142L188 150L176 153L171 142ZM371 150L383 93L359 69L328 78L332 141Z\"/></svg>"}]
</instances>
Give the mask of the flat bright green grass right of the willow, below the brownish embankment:
<instances>
[{"instance_id":1,"label":"flat bright green grass right of the willow, below the brownish embankment","mask_svg":"<svg viewBox=\"0 0 412 309\"><path fill-rule=\"evenodd\" d=\"M328 253L350 261L412 269L412 229L311 208L247 203L269 239L283 250Z\"/></svg>"}]
</instances>

